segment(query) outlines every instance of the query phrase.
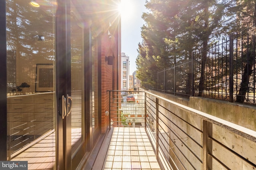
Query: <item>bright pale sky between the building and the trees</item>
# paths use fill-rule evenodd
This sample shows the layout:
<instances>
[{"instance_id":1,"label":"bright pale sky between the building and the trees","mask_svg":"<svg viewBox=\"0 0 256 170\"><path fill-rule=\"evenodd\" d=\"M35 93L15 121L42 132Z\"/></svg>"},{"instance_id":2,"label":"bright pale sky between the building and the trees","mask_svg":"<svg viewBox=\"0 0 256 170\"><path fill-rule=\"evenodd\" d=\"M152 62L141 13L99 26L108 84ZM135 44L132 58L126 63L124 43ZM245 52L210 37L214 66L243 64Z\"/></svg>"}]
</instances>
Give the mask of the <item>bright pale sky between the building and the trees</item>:
<instances>
[{"instance_id":1,"label":"bright pale sky between the building and the trees","mask_svg":"<svg viewBox=\"0 0 256 170\"><path fill-rule=\"evenodd\" d=\"M121 0L121 52L129 56L130 75L136 70L138 43L142 42L141 27L145 23L141 16L146 12L146 0Z\"/></svg>"}]
</instances>

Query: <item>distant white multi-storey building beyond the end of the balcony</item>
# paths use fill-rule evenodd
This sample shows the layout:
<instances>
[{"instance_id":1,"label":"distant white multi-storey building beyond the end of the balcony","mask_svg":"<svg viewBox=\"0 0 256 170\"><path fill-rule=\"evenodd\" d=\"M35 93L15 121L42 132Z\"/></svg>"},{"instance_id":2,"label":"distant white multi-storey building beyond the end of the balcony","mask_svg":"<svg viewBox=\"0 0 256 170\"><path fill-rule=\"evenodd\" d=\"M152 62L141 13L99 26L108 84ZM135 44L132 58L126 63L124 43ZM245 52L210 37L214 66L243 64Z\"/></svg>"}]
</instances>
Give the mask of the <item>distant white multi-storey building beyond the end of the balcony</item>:
<instances>
[{"instance_id":1,"label":"distant white multi-storey building beyond the end of the balcony","mask_svg":"<svg viewBox=\"0 0 256 170\"><path fill-rule=\"evenodd\" d=\"M121 53L121 90L129 90L129 56Z\"/></svg>"}]
</instances>

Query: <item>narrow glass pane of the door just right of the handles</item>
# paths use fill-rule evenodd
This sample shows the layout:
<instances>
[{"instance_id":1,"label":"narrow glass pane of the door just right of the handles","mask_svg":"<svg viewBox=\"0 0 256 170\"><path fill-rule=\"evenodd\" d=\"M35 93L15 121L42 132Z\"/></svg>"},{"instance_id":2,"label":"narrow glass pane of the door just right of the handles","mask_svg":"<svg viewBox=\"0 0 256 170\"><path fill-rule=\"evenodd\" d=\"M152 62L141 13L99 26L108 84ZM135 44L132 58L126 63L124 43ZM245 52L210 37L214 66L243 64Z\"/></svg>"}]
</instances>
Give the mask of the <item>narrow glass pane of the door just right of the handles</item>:
<instances>
[{"instance_id":1,"label":"narrow glass pane of the door just right of the handles","mask_svg":"<svg viewBox=\"0 0 256 170\"><path fill-rule=\"evenodd\" d=\"M71 25L71 154L72 169L75 169L84 155L85 149L85 124L84 124L84 38L83 24L80 15L74 5L71 4L70 12ZM70 137L70 134L67 134Z\"/></svg>"}]
</instances>

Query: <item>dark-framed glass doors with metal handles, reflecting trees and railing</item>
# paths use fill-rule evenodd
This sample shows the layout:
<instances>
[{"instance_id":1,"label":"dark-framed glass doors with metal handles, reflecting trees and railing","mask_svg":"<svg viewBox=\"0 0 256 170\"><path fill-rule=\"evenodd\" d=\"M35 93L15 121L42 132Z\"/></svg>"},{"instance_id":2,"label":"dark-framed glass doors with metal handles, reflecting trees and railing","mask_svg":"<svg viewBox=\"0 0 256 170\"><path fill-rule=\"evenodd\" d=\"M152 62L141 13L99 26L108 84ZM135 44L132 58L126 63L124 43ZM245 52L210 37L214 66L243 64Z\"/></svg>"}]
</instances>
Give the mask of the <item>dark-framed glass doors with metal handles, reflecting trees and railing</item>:
<instances>
[{"instance_id":1,"label":"dark-framed glass doors with metal handles, reflecting trees and railing","mask_svg":"<svg viewBox=\"0 0 256 170\"><path fill-rule=\"evenodd\" d=\"M28 169L76 169L100 133L97 37L70 0L0 5L6 6L6 160L28 161Z\"/></svg>"}]
</instances>

